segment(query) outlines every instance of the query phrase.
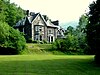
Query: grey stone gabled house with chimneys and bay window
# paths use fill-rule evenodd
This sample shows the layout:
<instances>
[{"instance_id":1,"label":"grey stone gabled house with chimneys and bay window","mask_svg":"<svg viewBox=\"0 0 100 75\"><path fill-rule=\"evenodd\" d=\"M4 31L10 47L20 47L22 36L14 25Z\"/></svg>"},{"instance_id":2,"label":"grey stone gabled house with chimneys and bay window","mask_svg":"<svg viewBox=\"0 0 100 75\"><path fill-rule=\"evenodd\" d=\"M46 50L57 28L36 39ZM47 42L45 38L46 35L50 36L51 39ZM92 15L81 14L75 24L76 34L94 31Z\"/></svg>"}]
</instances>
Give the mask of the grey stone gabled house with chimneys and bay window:
<instances>
[{"instance_id":1,"label":"grey stone gabled house with chimneys and bay window","mask_svg":"<svg viewBox=\"0 0 100 75\"><path fill-rule=\"evenodd\" d=\"M59 21L51 21L46 15L27 11L27 16L14 26L25 34L26 40L54 42L60 35Z\"/></svg>"}]
</instances>

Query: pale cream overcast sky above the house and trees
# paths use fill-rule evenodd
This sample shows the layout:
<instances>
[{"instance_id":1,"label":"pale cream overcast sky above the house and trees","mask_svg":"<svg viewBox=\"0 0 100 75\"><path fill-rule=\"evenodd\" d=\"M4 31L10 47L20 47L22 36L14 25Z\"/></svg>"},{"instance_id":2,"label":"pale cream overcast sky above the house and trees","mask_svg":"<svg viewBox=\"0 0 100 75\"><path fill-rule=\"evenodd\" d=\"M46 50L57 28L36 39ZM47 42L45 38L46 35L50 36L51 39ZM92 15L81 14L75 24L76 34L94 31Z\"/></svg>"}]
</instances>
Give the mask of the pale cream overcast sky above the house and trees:
<instances>
[{"instance_id":1,"label":"pale cream overcast sky above the house and trees","mask_svg":"<svg viewBox=\"0 0 100 75\"><path fill-rule=\"evenodd\" d=\"M60 23L78 21L93 0L10 0L21 8L40 12ZM94 0L95 1L95 0Z\"/></svg>"}]
</instances>

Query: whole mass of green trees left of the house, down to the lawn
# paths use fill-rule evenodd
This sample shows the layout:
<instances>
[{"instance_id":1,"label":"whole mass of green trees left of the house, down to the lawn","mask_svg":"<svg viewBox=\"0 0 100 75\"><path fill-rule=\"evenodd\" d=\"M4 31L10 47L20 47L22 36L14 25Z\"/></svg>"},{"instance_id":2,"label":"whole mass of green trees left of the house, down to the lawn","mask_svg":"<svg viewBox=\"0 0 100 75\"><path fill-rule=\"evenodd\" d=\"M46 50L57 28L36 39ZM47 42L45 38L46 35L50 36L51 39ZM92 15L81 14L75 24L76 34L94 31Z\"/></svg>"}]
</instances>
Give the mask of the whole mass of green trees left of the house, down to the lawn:
<instances>
[{"instance_id":1,"label":"whole mass of green trees left of the house, down to the lawn","mask_svg":"<svg viewBox=\"0 0 100 75\"><path fill-rule=\"evenodd\" d=\"M24 16L25 11L22 8L9 0L0 0L0 54L18 54L25 49L26 40L23 34L13 28Z\"/></svg>"}]
</instances>

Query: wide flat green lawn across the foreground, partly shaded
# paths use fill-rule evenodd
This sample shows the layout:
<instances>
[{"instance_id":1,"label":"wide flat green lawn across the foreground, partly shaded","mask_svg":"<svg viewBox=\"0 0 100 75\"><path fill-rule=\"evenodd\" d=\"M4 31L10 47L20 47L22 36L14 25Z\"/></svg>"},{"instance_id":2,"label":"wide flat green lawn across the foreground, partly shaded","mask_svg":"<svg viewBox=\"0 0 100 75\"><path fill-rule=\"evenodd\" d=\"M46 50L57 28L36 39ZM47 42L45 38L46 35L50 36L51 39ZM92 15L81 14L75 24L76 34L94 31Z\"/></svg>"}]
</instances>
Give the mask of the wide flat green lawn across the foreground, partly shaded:
<instances>
[{"instance_id":1,"label":"wide flat green lawn across the foreground, partly shaded","mask_svg":"<svg viewBox=\"0 0 100 75\"><path fill-rule=\"evenodd\" d=\"M4 55L0 75L100 75L88 55Z\"/></svg>"}]
</instances>

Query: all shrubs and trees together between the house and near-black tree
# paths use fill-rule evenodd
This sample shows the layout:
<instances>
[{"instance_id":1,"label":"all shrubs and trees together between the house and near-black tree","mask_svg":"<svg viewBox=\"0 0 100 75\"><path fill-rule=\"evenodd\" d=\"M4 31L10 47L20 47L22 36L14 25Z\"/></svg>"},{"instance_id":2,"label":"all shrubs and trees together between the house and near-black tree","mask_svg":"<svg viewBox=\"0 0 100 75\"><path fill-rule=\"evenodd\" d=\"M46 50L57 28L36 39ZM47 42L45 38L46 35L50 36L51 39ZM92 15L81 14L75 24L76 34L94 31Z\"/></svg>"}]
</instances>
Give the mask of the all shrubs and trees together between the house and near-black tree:
<instances>
[{"instance_id":1,"label":"all shrubs and trees together between the house and near-black tree","mask_svg":"<svg viewBox=\"0 0 100 75\"><path fill-rule=\"evenodd\" d=\"M86 25L88 16L83 14L79 19L79 25L75 28L69 26L65 32L65 39L57 39L53 48L67 54L91 54L86 41Z\"/></svg>"}]
</instances>

